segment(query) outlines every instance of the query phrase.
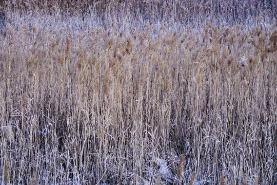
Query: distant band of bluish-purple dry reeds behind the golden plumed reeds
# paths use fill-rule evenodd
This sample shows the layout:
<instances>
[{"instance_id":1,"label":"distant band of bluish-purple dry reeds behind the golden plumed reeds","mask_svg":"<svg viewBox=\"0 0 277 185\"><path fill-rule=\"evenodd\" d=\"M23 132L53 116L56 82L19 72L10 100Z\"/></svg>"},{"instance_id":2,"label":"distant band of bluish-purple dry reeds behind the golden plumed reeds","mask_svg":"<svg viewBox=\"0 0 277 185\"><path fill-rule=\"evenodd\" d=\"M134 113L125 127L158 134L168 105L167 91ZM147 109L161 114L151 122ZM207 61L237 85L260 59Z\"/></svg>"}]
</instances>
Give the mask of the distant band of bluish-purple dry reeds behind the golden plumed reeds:
<instances>
[{"instance_id":1,"label":"distant band of bluish-purple dry reeds behind the golden plumed reeds","mask_svg":"<svg viewBox=\"0 0 277 185\"><path fill-rule=\"evenodd\" d=\"M267 21L277 16L276 1L236 0L6 0L0 1L1 11L16 11L28 14L46 13L62 15L81 15L83 18L91 13L97 14L102 20L116 17L117 20L143 18L147 21L191 23L198 21L225 21L234 23L251 22L263 13ZM1 14L0 14L1 17Z\"/></svg>"}]
</instances>

